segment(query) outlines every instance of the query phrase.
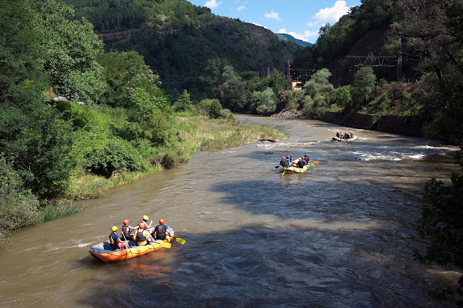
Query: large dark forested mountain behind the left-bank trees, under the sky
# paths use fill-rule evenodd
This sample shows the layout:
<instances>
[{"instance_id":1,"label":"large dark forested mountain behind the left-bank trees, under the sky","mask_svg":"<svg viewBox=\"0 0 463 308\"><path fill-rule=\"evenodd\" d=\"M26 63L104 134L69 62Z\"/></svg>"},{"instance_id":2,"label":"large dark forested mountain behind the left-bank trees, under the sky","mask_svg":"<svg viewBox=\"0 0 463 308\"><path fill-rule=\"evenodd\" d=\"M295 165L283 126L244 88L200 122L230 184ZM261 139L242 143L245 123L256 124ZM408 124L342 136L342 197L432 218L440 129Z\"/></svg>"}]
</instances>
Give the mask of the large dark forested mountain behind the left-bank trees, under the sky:
<instances>
[{"instance_id":1,"label":"large dark forested mountain behind the left-bank trees, under the sky","mask_svg":"<svg viewBox=\"0 0 463 308\"><path fill-rule=\"evenodd\" d=\"M95 26L106 50L138 51L175 96L187 89L201 98L208 60L222 58L235 71L284 73L302 47L272 31L212 14L185 0L65 0Z\"/></svg>"}]
</instances>

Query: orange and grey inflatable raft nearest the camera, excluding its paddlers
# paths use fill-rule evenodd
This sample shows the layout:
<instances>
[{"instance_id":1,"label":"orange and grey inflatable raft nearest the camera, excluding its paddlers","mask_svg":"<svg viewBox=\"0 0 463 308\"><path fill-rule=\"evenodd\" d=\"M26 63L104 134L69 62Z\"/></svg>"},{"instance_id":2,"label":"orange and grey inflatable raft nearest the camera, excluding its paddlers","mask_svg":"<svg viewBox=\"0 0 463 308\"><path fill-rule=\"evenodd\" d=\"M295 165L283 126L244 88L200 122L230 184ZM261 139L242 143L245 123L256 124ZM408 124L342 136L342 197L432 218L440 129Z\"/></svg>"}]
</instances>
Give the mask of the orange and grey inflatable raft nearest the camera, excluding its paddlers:
<instances>
[{"instance_id":1,"label":"orange and grey inflatable raft nearest the camera, excluding its paddlers","mask_svg":"<svg viewBox=\"0 0 463 308\"><path fill-rule=\"evenodd\" d=\"M130 247L130 249L121 250L113 250L109 245L109 242L106 241L90 247L88 249L88 252L90 253L90 255L96 257L97 259L100 259L103 262L118 262L131 259L133 257L138 257L141 255L146 255L149 252L153 252L155 250L158 250L159 248L166 247L167 245L165 244L168 244L169 246L171 245L171 241L175 236L175 231L173 230L173 227L167 228L172 236L166 236L166 240L156 240L145 246L137 246L136 242L133 242L133 240L129 240L128 247Z\"/></svg>"}]
</instances>

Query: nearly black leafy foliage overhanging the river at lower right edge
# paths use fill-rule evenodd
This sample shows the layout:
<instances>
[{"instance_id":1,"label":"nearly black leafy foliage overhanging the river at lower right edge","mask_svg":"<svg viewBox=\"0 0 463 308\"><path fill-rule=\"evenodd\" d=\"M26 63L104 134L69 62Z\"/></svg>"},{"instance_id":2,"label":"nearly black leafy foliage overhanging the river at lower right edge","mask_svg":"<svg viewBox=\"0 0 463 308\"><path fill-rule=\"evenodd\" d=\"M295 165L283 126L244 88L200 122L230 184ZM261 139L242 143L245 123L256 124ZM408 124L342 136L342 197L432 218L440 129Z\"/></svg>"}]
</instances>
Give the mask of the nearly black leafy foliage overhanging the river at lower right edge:
<instances>
[{"instance_id":1,"label":"nearly black leafy foliage overhanging the river at lower right edge","mask_svg":"<svg viewBox=\"0 0 463 308\"><path fill-rule=\"evenodd\" d=\"M463 146L454 158L463 169ZM436 262L439 265L454 265L463 269L463 174L452 175L452 185L432 178L424 186L421 217L417 221L418 234L430 241L426 252L414 251L420 262ZM459 295L459 306L463 305L463 276L452 288L438 288L429 292L433 299L444 301L450 295Z\"/></svg>"}]
</instances>

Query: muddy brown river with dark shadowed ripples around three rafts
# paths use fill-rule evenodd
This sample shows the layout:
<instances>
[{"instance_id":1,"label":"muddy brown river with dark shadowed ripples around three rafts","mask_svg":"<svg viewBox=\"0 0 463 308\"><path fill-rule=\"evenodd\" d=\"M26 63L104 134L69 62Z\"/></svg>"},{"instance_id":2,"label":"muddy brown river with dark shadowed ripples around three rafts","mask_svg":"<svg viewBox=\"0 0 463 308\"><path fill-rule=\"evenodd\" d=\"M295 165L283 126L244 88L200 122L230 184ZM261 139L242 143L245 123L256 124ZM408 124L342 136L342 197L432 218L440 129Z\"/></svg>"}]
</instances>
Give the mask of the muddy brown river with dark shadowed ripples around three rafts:
<instances>
[{"instance_id":1,"label":"muddy brown river with dark shadowed ripples around three rafts","mask_svg":"<svg viewBox=\"0 0 463 308\"><path fill-rule=\"evenodd\" d=\"M0 307L446 307L427 289L453 268L421 265L424 183L459 169L457 148L316 120L237 115L288 140L199 152L190 162L86 200L11 235ZM328 141L352 130L353 142ZM319 165L281 175L282 156ZM164 218L185 245L103 263L88 247L122 220Z\"/></svg>"}]
</instances>

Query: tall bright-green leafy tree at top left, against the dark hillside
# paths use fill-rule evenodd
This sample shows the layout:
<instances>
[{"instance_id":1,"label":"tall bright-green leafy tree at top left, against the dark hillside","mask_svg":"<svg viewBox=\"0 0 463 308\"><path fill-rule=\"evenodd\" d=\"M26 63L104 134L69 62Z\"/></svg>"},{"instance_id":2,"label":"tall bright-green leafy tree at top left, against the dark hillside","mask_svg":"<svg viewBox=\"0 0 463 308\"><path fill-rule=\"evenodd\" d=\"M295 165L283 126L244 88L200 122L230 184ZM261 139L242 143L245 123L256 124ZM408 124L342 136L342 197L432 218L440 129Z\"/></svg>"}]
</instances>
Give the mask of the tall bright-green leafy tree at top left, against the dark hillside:
<instances>
[{"instance_id":1,"label":"tall bright-green leafy tree at top left, against the dark hillside","mask_svg":"<svg viewBox=\"0 0 463 308\"><path fill-rule=\"evenodd\" d=\"M84 103L98 102L106 83L96 62L103 42L93 33L93 25L86 19L71 21L74 11L62 2L31 1L31 6L37 17L34 26L44 38L46 55L40 61L55 93Z\"/></svg>"}]
</instances>

